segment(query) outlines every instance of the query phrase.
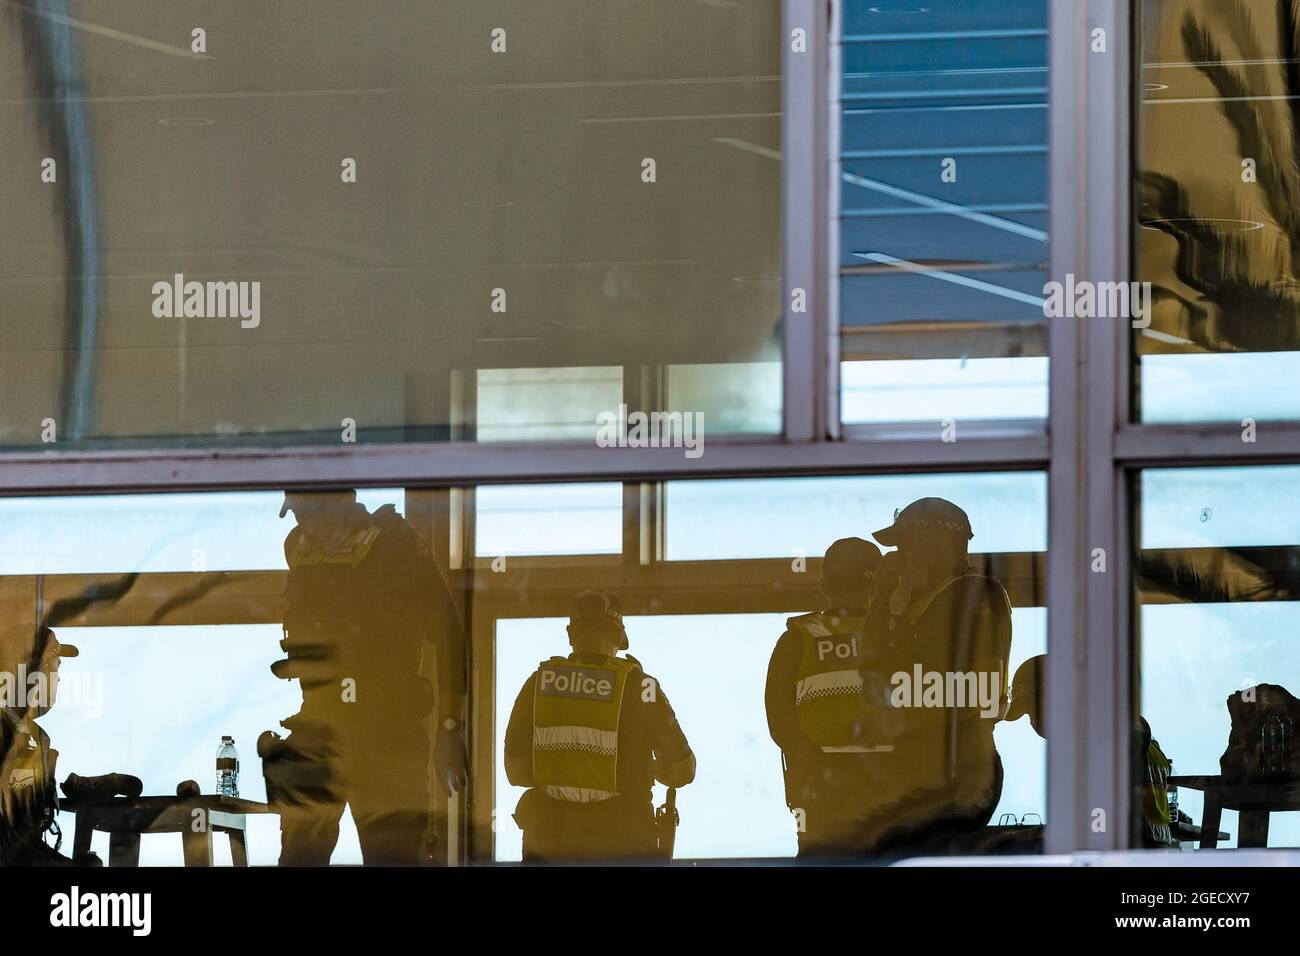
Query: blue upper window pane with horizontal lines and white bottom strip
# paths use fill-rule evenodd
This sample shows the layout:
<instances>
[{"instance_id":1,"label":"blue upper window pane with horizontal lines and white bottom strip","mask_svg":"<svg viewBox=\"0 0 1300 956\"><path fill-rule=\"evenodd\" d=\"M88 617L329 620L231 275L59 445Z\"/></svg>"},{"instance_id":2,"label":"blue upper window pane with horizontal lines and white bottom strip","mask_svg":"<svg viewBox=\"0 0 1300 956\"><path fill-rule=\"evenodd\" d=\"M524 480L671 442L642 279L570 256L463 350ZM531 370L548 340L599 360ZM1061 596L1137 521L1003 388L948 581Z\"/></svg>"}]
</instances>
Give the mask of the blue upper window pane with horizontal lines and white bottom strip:
<instances>
[{"instance_id":1,"label":"blue upper window pane with horizontal lines and white bottom strip","mask_svg":"<svg viewBox=\"0 0 1300 956\"><path fill-rule=\"evenodd\" d=\"M1046 7L842 4L845 423L1046 416Z\"/></svg>"}]
</instances>

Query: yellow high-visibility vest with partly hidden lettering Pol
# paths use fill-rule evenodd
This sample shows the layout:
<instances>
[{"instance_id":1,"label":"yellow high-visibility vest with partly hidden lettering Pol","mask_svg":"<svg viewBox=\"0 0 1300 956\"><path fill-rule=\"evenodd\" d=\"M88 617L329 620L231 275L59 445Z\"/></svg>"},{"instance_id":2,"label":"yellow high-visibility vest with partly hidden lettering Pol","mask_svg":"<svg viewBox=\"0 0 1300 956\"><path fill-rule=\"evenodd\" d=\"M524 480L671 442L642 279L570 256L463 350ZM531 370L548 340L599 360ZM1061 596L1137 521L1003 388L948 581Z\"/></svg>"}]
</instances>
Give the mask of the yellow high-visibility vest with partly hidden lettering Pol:
<instances>
[{"instance_id":1,"label":"yellow high-visibility vest with partly hidden lettering Pol","mask_svg":"<svg viewBox=\"0 0 1300 956\"><path fill-rule=\"evenodd\" d=\"M800 730L826 753L857 749L854 724L862 722L858 643L863 618L819 613L790 618L803 653L794 683Z\"/></svg>"}]
</instances>

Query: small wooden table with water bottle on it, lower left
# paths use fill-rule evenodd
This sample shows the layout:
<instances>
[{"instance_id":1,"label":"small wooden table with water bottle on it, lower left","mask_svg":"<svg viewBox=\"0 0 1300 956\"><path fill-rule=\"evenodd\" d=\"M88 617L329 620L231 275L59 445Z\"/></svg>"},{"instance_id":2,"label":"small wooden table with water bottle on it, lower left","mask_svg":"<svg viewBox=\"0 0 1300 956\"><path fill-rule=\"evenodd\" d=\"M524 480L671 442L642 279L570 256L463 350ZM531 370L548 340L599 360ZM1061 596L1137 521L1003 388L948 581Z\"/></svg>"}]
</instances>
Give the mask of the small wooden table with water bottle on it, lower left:
<instances>
[{"instance_id":1,"label":"small wooden table with water bottle on it, lower left","mask_svg":"<svg viewBox=\"0 0 1300 956\"><path fill-rule=\"evenodd\" d=\"M212 834L226 834L230 860L248 865L244 816L273 813L266 804L204 793L196 797L142 796L58 801L60 810L77 814L73 856L90 852L96 830L108 834L108 865L139 866L142 834L181 834L186 866L212 866Z\"/></svg>"}]
</instances>

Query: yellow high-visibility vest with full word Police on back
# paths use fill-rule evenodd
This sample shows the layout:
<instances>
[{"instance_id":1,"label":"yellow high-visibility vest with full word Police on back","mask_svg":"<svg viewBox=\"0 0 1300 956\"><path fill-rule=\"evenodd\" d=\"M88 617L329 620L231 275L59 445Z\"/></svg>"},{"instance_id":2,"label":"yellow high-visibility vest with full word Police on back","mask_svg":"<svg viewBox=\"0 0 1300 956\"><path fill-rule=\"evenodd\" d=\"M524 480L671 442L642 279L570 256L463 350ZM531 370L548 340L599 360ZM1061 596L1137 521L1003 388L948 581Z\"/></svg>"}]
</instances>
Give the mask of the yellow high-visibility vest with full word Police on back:
<instances>
[{"instance_id":1,"label":"yellow high-visibility vest with full word Police on back","mask_svg":"<svg viewBox=\"0 0 1300 956\"><path fill-rule=\"evenodd\" d=\"M533 685L533 778L556 800L589 804L618 796L619 715L628 676L640 667L607 657L552 657Z\"/></svg>"}]
</instances>

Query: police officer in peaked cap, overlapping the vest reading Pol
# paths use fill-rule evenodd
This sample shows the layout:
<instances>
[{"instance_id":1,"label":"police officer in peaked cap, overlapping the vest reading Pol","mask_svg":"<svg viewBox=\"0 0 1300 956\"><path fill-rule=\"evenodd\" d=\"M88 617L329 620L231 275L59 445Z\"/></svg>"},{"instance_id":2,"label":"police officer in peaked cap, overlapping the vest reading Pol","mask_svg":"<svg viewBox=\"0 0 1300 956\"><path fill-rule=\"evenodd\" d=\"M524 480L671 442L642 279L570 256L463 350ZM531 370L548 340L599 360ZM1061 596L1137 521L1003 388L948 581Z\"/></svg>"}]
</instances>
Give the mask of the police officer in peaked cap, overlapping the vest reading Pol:
<instances>
[{"instance_id":1,"label":"police officer in peaked cap, overlapping the vest reading Pol","mask_svg":"<svg viewBox=\"0 0 1300 956\"><path fill-rule=\"evenodd\" d=\"M1011 605L971 564L970 519L950 501L914 501L874 537L897 550L876 571L874 639L862 648L875 728L893 748L880 761L868 843L881 855L957 851L979 838L1002 791L993 727L1006 711ZM962 695L931 693L949 687Z\"/></svg>"}]
</instances>

